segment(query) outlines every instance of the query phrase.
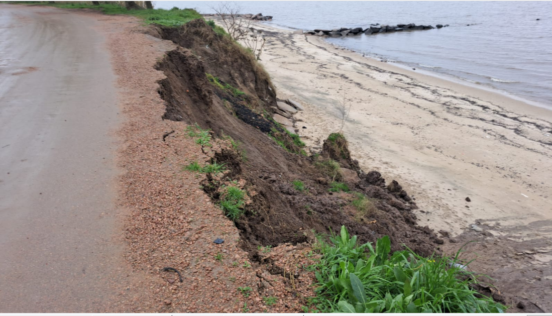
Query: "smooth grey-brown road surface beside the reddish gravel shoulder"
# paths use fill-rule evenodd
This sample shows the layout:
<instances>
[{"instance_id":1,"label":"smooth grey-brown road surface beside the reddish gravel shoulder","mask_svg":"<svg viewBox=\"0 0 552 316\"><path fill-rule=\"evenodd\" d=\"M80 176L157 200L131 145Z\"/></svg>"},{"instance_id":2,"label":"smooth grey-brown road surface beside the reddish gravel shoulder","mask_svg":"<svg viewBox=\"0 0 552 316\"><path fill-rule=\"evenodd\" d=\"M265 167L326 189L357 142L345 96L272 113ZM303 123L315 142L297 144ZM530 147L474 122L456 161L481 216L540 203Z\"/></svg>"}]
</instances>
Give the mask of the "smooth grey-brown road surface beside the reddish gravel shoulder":
<instances>
[{"instance_id":1,"label":"smooth grey-brown road surface beside the reddish gravel shoulder","mask_svg":"<svg viewBox=\"0 0 552 316\"><path fill-rule=\"evenodd\" d=\"M123 247L97 15L0 4L0 313L99 312Z\"/></svg>"}]
</instances>

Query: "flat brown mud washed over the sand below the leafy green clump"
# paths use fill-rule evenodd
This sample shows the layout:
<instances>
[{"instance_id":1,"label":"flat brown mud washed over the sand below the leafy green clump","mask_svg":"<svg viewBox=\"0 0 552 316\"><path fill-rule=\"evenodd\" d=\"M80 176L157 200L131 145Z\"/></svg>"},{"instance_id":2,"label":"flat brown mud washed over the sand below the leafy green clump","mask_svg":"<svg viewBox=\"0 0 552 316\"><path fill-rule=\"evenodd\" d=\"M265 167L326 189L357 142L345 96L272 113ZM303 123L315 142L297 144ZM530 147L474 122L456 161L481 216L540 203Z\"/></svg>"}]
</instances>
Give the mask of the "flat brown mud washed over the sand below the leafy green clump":
<instances>
[{"instance_id":1,"label":"flat brown mud washed over the sand below the leafy green clump","mask_svg":"<svg viewBox=\"0 0 552 316\"><path fill-rule=\"evenodd\" d=\"M552 310L552 222L501 225L503 219L477 220L474 229L447 243L445 253L462 246L460 259L474 260L470 269L483 275L481 281L496 301L512 313L545 313ZM444 233L444 232L443 232ZM445 233L447 235L447 233Z\"/></svg>"}]
</instances>

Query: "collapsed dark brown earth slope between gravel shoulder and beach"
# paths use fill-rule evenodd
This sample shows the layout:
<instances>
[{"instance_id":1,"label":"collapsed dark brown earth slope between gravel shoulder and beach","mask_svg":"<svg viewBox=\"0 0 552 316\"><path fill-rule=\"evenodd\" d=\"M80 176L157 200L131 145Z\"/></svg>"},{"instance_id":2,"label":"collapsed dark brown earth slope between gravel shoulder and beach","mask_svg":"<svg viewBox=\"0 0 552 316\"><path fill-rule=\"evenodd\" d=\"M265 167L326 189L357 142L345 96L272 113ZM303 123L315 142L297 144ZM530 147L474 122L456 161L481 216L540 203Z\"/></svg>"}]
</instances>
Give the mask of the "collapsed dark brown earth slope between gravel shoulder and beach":
<instances>
[{"instance_id":1,"label":"collapsed dark brown earth slope between gravel shoulder and beach","mask_svg":"<svg viewBox=\"0 0 552 316\"><path fill-rule=\"evenodd\" d=\"M213 130L215 136L229 135L241 143L239 150L222 150L213 155L214 161L225 163L231 171L222 179L207 175L204 188L217 202L221 183L230 179L245 181L251 203L235 224L241 230L243 249L250 251L251 259L260 260L258 245L303 243L312 240L314 232L339 231L341 225L358 235L361 243L389 235L392 250L406 245L428 255L442 244L432 230L416 224L412 213L416 204L398 183L386 186L378 172L360 170L351 159L346 141L339 145L341 167L358 176L354 177L358 181L347 184L352 191L369 198L371 210L359 213L351 205L354 194L328 192L332 178L315 165L322 157L332 158L335 150L328 147L320 157L302 155L300 146L267 119L272 116L275 89L267 73L246 50L216 34L203 20L177 29L160 28L157 32L180 46L167 52L158 64L167 76L159 88L167 106L163 118L197 123ZM237 90L232 93L232 89ZM286 149L273 138L279 139ZM296 180L304 183L303 191L292 184Z\"/></svg>"}]
</instances>

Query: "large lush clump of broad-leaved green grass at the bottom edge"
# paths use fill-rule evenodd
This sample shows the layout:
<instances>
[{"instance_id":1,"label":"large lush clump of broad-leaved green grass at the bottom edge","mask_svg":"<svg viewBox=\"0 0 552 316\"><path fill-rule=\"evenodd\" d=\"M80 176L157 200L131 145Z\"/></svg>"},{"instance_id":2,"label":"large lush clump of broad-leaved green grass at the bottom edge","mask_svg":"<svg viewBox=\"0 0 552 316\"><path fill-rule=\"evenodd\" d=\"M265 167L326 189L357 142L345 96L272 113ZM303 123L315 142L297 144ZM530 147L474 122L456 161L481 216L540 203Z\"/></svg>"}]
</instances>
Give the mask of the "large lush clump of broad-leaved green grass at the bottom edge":
<instances>
[{"instance_id":1,"label":"large lush clump of broad-leaved green grass at the bottom edge","mask_svg":"<svg viewBox=\"0 0 552 316\"><path fill-rule=\"evenodd\" d=\"M388 236L357 244L343 226L321 240L322 257L313 267L319 282L312 299L322 313L500 313L506 307L478 298L475 275L455 266L455 257L422 257L410 249L389 256ZM368 251L368 254L367 254Z\"/></svg>"}]
</instances>

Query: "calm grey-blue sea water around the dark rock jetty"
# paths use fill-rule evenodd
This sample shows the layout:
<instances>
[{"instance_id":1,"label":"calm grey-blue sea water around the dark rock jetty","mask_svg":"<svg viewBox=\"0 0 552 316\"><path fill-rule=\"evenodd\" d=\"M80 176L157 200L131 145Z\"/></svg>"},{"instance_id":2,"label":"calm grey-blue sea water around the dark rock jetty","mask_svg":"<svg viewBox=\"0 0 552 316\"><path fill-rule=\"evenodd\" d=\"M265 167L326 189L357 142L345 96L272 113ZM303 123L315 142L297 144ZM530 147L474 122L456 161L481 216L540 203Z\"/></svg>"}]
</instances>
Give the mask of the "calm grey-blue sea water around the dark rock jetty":
<instances>
[{"instance_id":1,"label":"calm grey-blue sea water around the dark rock jetty","mask_svg":"<svg viewBox=\"0 0 552 316\"><path fill-rule=\"evenodd\" d=\"M214 13L218 2L157 1L157 8ZM328 38L405 66L454 76L552 106L552 2L242 1L243 13L273 15L280 27L449 24L433 30ZM536 20L540 19L540 20ZM468 24L470 24L468 26Z\"/></svg>"}]
</instances>

